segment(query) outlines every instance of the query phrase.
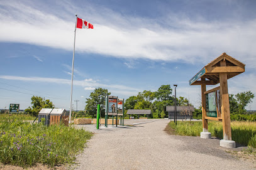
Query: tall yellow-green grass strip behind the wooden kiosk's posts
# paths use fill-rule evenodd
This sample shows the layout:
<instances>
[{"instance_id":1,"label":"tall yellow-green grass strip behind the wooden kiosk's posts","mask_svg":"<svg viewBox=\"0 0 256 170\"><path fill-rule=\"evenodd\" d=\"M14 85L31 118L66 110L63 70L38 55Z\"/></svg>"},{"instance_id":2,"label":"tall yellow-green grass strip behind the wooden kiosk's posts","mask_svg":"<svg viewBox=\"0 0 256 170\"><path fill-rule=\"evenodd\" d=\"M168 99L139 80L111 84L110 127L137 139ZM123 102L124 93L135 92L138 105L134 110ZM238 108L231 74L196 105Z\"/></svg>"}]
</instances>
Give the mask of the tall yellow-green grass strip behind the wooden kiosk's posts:
<instances>
[{"instance_id":1,"label":"tall yellow-green grass strip behind the wooden kiosk's posts","mask_svg":"<svg viewBox=\"0 0 256 170\"><path fill-rule=\"evenodd\" d=\"M199 136L203 129L202 122L170 122L169 126L178 135ZM222 122L209 121L208 130L212 136L223 139ZM233 141L256 148L256 122L231 122L231 134Z\"/></svg>"}]
</instances>

